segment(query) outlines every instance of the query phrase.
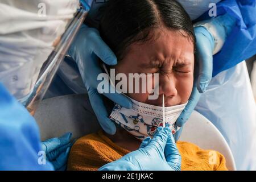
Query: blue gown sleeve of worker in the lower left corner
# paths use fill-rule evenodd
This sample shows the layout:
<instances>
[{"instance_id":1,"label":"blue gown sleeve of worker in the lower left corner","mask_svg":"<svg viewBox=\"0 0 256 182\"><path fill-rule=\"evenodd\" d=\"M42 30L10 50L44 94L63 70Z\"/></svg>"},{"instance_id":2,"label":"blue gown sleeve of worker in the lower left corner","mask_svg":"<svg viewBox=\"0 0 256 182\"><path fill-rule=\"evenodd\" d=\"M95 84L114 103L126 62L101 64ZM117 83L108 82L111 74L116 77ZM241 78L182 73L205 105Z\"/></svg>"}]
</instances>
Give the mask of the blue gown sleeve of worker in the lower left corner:
<instances>
[{"instance_id":1,"label":"blue gown sleeve of worker in the lower left corner","mask_svg":"<svg viewBox=\"0 0 256 182\"><path fill-rule=\"evenodd\" d=\"M0 170L53 170L34 118L0 83Z\"/></svg>"}]
</instances>

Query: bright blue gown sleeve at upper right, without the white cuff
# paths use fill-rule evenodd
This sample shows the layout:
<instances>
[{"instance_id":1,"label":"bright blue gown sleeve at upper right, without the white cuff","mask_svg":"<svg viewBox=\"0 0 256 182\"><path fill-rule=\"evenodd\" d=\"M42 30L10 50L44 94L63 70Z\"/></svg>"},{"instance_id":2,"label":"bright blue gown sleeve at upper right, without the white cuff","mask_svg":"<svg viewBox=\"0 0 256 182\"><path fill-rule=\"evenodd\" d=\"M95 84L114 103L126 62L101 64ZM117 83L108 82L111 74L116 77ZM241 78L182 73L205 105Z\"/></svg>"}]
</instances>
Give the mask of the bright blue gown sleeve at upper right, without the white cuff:
<instances>
[{"instance_id":1,"label":"bright blue gown sleeve at upper right, without the white cuff","mask_svg":"<svg viewBox=\"0 0 256 182\"><path fill-rule=\"evenodd\" d=\"M217 16L228 15L236 19L236 23L226 37L221 50L213 56L213 76L255 55L255 3L254 0L224 0L217 3ZM209 19L208 12L200 16L196 22L205 19Z\"/></svg>"}]
</instances>

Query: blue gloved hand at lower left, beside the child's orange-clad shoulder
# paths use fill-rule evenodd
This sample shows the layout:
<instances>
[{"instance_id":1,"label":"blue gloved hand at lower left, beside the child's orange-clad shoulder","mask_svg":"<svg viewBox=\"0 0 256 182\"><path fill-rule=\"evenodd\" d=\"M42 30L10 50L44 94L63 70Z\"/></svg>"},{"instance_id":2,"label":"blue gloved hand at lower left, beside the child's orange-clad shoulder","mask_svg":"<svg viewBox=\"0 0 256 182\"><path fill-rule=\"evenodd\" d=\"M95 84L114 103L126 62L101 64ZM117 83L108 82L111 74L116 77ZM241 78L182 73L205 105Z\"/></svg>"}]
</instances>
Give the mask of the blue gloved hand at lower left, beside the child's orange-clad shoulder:
<instances>
[{"instance_id":1,"label":"blue gloved hand at lower left, beside the child's orange-clad shoulder","mask_svg":"<svg viewBox=\"0 0 256 182\"><path fill-rule=\"evenodd\" d=\"M64 171L67 168L68 154L72 146L72 133L66 133L59 138L51 138L42 142L46 159L52 163L55 170Z\"/></svg>"}]
</instances>

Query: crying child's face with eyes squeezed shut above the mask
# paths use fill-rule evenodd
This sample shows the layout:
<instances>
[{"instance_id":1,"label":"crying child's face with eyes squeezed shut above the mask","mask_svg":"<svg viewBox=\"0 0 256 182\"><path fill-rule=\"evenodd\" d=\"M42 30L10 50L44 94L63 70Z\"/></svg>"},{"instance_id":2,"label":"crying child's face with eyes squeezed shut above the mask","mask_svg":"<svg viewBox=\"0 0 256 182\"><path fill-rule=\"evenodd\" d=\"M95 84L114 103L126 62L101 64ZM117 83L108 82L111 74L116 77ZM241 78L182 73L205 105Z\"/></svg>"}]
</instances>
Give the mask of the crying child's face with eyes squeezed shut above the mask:
<instances>
[{"instance_id":1,"label":"crying child's face with eyes squeezed shut above the mask","mask_svg":"<svg viewBox=\"0 0 256 182\"><path fill-rule=\"evenodd\" d=\"M193 43L177 31L156 29L151 33L154 41L131 44L125 57L114 67L115 72L125 73L127 78L129 73L159 73L159 95L164 94L165 105L184 104L193 87ZM162 97L148 100L148 93L127 95L139 102L162 106Z\"/></svg>"}]
</instances>

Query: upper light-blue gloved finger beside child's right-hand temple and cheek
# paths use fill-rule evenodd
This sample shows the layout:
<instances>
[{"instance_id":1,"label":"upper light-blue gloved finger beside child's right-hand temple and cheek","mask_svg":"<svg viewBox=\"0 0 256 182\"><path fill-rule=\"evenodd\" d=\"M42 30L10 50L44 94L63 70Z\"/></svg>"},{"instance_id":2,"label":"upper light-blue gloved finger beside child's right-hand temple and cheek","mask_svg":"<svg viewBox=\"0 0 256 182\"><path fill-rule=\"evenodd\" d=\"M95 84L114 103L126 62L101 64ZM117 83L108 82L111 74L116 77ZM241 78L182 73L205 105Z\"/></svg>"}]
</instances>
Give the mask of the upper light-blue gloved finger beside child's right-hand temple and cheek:
<instances>
[{"instance_id":1,"label":"upper light-blue gloved finger beside child's right-hand temple and cheek","mask_svg":"<svg viewBox=\"0 0 256 182\"><path fill-rule=\"evenodd\" d=\"M212 79L214 39L204 27L195 28L196 59L199 63L199 77L196 80L197 89L204 93Z\"/></svg>"}]
</instances>

